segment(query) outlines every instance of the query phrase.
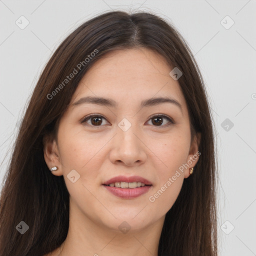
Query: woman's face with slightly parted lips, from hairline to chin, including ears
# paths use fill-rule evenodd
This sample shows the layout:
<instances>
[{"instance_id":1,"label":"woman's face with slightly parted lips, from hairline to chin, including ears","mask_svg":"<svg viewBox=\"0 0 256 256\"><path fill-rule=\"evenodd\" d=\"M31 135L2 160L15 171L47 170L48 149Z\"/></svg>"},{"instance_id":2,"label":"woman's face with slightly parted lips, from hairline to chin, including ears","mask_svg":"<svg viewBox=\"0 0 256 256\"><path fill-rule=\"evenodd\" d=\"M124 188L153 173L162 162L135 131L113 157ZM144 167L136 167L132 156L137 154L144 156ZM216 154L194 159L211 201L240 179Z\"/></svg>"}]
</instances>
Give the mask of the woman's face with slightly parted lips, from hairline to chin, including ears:
<instances>
[{"instance_id":1,"label":"woman's face with slightly parted lips, from hairline to chin, including ears","mask_svg":"<svg viewBox=\"0 0 256 256\"><path fill-rule=\"evenodd\" d=\"M139 48L107 53L84 75L60 120L55 154L45 154L58 166L52 174L64 177L73 214L111 229L163 221L198 160L171 69Z\"/></svg>"}]
</instances>

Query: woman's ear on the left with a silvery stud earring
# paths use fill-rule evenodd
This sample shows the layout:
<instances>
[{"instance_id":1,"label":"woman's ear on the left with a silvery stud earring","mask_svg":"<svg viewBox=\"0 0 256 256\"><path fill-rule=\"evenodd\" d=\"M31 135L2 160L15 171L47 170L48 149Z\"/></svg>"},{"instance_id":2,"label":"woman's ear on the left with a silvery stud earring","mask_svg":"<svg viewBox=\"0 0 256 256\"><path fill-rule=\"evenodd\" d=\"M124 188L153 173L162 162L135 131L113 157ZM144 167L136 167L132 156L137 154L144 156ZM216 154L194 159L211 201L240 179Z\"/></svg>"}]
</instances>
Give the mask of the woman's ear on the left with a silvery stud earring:
<instances>
[{"instance_id":1,"label":"woman's ear on the left with a silvery stud earring","mask_svg":"<svg viewBox=\"0 0 256 256\"><path fill-rule=\"evenodd\" d=\"M43 156L44 160L50 169L53 166L57 166L57 170L51 171L53 175L61 176L62 173L62 164L59 157L58 146L56 140L50 135L44 135L42 139L43 143Z\"/></svg>"}]
</instances>

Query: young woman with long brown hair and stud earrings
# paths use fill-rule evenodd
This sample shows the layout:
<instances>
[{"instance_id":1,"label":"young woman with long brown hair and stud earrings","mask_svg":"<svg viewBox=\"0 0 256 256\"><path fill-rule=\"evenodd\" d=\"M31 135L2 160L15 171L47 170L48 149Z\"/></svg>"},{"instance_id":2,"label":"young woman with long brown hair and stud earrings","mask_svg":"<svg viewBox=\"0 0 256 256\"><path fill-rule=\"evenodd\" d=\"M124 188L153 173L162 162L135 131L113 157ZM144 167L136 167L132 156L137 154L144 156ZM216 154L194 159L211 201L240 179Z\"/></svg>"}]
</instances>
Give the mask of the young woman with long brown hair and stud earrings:
<instances>
[{"instance_id":1,"label":"young woman with long brown hair and stud earrings","mask_svg":"<svg viewBox=\"0 0 256 256\"><path fill-rule=\"evenodd\" d=\"M110 11L41 73L0 197L1 255L217 255L212 117L160 17Z\"/></svg>"}]
</instances>

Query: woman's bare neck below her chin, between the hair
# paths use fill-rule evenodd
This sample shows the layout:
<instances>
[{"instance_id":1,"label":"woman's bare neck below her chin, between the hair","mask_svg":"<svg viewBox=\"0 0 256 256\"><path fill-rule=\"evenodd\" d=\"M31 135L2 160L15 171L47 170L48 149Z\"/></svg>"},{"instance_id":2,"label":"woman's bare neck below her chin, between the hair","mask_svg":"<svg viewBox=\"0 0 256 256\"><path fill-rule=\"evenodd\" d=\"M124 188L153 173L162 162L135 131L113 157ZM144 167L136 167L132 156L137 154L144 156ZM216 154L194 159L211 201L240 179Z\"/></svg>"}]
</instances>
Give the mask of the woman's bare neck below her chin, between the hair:
<instances>
[{"instance_id":1,"label":"woman's bare neck below her chin, between the hair","mask_svg":"<svg viewBox=\"0 0 256 256\"><path fill-rule=\"evenodd\" d=\"M122 232L118 224L117 228L109 228L85 216L70 202L68 233L61 244L59 256L157 256L163 221L164 216L143 228L123 229ZM122 223L123 220L116 219L116 222ZM122 224L124 227L125 223Z\"/></svg>"}]
</instances>

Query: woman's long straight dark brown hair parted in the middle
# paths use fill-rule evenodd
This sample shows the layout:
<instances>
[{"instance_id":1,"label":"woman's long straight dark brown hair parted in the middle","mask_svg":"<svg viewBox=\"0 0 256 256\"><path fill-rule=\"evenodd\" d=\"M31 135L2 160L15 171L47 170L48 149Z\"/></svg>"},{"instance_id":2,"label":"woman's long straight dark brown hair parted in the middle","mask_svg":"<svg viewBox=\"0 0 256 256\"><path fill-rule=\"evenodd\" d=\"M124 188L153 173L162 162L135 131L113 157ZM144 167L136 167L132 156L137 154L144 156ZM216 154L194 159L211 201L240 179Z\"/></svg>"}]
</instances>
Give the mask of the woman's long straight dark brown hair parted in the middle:
<instances>
[{"instance_id":1,"label":"woman's long straight dark brown hair parted in the middle","mask_svg":"<svg viewBox=\"0 0 256 256\"><path fill-rule=\"evenodd\" d=\"M48 170L43 139L46 134L56 135L59 119L88 68L106 52L135 47L154 50L170 68L182 71L178 82L187 103L191 134L201 133L201 155L194 173L184 179L175 203L166 213L158 255L217 255L213 122L199 68L186 42L170 23L155 14L123 11L109 11L81 24L59 45L40 74L1 190L1 255L40 256L65 240L69 193L63 176L52 175ZM86 62L85 58L96 51ZM79 69L77 74L66 82L74 68ZM63 86L59 86L61 83ZM54 99L50 99L53 94ZM20 221L29 226L24 234L15 228Z\"/></svg>"}]
</instances>

